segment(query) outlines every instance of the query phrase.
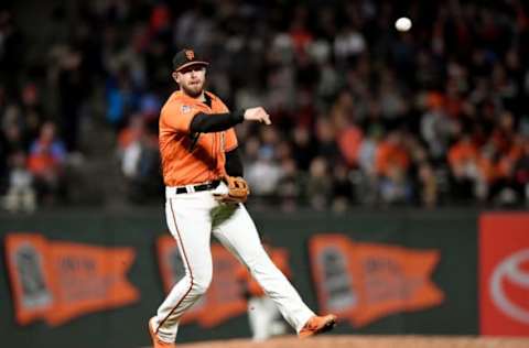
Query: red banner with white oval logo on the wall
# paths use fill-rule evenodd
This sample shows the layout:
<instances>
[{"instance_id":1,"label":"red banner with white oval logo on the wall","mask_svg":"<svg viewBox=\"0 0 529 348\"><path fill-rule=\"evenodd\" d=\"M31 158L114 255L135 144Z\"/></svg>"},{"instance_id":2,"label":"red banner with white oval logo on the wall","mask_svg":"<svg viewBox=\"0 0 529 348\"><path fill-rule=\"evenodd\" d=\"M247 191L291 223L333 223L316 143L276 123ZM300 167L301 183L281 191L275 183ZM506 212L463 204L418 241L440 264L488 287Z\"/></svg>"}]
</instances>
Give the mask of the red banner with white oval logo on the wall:
<instances>
[{"instance_id":1,"label":"red banner with white oval logo on the wall","mask_svg":"<svg viewBox=\"0 0 529 348\"><path fill-rule=\"evenodd\" d=\"M529 214L482 215L479 293L481 334L529 336Z\"/></svg>"}]
</instances>

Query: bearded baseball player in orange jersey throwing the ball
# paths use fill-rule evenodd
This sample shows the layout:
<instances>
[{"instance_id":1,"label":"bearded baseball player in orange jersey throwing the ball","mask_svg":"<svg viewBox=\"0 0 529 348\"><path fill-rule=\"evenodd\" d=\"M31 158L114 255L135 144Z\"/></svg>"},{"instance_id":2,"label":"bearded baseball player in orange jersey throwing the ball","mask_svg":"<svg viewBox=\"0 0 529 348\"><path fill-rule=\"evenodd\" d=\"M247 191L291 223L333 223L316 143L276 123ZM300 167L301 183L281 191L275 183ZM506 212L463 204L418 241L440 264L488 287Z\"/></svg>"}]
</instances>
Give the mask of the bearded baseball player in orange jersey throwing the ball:
<instances>
[{"instance_id":1,"label":"bearded baseball player in orange jersey throwing the ball","mask_svg":"<svg viewBox=\"0 0 529 348\"><path fill-rule=\"evenodd\" d=\"M192 50L173 58L174 91L160 115L160 153L165 184L165 217L176 239L185 276L149 320L154 348L174 348L179 322L212 281L212 232L231 251L279 307L299 337L332 329L335 315L316 316L301 300L261 246L242 205L249 194L242 178L234 126L270 124L263 108L230 112L204 90L207 62Z\"/></svg>"}]
</instances>

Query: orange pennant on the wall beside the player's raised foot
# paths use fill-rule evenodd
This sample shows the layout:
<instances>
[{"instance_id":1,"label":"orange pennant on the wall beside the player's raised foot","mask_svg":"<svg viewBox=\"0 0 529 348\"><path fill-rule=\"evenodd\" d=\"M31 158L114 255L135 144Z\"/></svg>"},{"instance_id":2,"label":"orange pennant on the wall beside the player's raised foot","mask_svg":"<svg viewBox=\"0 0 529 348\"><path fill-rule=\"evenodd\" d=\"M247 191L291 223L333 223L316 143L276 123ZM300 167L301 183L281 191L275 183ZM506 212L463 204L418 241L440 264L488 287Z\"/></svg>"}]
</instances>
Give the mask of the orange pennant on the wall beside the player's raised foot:
<instances>
[{"instance_id":1,"label":"orange pennant on the wall beside the player's raised foot","mask_svg":"<svg viewBox=\"0 0 529 348\"><path fill-rule=\"evenodd\" d=\"M440 305L443 292L430 280L436 250L365 243L344 235L310 240L320 309L347 318L355 327L381 317Z\"/></svg>"}]
</instances>

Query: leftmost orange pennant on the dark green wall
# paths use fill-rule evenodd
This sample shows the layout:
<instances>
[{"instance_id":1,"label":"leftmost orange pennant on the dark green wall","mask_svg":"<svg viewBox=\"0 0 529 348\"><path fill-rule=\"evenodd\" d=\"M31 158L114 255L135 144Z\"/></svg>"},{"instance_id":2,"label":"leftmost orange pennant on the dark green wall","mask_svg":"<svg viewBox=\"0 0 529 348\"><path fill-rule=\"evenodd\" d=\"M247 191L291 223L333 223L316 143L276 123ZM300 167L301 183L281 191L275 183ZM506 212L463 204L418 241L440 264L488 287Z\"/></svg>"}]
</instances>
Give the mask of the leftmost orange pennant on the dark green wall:
<instances>
[{"instance_id":1,"label":"leftmost orange pennant on the dark green wall","mask_svg":"<svg viewBox=\"0 0 529 348\"><path fill-rule=\"evenodd\" d=\"M56 326L139 300L139 292L126 276L136 257L131 248L10 233L6 237L6 253L15 318L21 325L43 318Z\"/></svg>"}]
</instances>

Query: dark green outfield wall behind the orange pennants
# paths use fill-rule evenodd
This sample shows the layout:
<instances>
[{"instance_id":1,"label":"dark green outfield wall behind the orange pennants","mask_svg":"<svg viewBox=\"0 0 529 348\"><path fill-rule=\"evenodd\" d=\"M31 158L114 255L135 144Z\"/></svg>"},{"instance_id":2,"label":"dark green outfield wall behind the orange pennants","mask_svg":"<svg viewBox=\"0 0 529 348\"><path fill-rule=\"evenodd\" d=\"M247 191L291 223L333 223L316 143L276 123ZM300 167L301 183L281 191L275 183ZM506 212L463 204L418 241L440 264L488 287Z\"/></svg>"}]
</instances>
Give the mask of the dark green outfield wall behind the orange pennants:
<instances>
[{"instance_id":1,"label":"dark green outfield wall behind the orange pennants","mask_svg":"<svg viewBox=\"0 0 529 348\"><path fill-rule=\"evenodd\" d=\"M94 210L45 211L0 217L2 258L0 267L0 333L2 347L138 348L150 344L147 320L164 297L156 257L156 239L168 236L163 209L127 213ZM335 334L478 334L477 218L474 210L399 210L330 214L252 213L261 233L276 247L289 251L292 282L305 302L316 311L319 302L311 272L309 240L315 235L339 233L360 243L401 246L410 250L438 250L439 263L431 275L443 292L440 305L397 312L369 325L355 327L343 322ZM14 318L13 290L6 263L6 236L41 233L50 241L68 241L99 247L130 247L136 259L128 273L139 290L139 301L115 309L94 312L58 326L44 320L26 325ZM214 273L215 282L215 273ZM249 337L245 314L204 328L197 324L180 329L179 341Z\"/></svg>"}]
</instances>

